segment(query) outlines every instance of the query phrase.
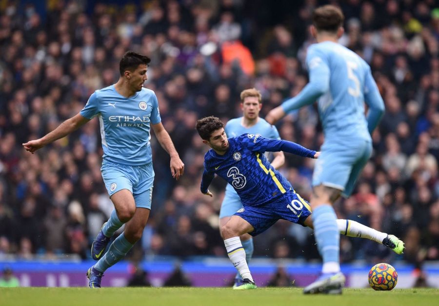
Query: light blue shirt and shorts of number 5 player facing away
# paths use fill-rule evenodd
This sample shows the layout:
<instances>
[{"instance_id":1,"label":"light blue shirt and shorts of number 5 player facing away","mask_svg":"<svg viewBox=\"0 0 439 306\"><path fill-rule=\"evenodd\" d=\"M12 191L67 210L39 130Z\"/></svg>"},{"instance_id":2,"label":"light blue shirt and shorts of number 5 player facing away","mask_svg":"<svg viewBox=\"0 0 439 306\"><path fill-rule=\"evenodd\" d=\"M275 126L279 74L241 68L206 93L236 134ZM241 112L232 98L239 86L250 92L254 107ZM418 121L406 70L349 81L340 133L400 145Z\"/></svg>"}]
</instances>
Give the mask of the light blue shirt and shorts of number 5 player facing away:
<instances>
[{"instance_id":1,"label":"light blue shirt and shorts of number 5 player facing away","mask_svg":"<svg viewBox=\"0 0 439 306\"><path fill-rule=\"evenodd\" d=\"M349 196L372 152L370 135L384 113L384 103L369 65L346 47L332 41L313 44L306 64L309 83L281 106L289 112L318 100L325 141L313 186L323 184Z\"/></svg>"}]
</instances>

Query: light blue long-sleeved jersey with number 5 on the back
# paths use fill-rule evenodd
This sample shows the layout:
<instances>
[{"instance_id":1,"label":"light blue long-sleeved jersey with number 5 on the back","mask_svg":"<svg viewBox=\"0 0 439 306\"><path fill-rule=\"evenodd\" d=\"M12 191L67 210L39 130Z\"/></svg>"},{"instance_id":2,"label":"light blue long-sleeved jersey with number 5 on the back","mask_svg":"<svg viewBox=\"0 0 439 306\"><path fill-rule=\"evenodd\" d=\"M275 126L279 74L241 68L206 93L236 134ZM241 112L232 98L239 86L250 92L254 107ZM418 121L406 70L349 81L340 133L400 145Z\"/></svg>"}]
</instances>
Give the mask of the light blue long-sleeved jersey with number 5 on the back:
<instances>
[{"instance_id":1,"label":"light blue long-sleeved jersey with number 5 on the back","mask_svg":"<svg viewBox=\"0 0 439 306\"><path fill-rule=\"evenodd\" d=\"M285 112L318 99L325 138L370 140L384 103L369 65L356 53L332 41L311 45L306 56L310 82L296 97L284 102ZM364 102L369 106L364 116Z\"/></svg>"}]
</instances>

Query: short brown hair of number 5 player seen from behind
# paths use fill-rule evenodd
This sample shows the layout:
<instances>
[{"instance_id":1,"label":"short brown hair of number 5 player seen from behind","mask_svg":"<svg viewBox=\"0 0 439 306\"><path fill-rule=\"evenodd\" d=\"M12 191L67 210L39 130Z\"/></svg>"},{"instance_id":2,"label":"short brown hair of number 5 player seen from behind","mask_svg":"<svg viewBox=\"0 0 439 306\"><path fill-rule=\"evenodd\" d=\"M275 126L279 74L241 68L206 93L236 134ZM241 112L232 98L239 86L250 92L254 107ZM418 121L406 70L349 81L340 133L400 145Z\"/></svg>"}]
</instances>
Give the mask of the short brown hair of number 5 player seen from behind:
<instances>
[{"instance_id":1,"label":"short brown hair of number 5 player seen from behind","mask_svg":"<svg viewBox=\"0 0 439 306\"><path fill-rule=\"evenodd\" d=\"M323 5L313 12L313 25L318 31L337 32L343 22L343 12L337 6Z\"/></svg>"}]
</instances>

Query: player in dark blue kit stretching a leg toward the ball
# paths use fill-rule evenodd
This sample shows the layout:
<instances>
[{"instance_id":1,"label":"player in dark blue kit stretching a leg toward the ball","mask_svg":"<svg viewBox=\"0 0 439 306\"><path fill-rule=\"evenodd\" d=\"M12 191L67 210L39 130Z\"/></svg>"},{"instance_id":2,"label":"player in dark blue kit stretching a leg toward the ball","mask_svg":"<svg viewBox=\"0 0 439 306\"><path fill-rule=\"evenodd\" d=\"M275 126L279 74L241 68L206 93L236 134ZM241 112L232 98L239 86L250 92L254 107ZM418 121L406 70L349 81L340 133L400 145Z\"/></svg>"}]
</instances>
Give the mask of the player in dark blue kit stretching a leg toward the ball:
<instances>
[{"instance_id":1,"label":"player in dark blue kit stretching a leg toward the ball","mask_svg":"<svg viewBox=\"0 0 439 306\"><path fill-rule=\"evenodd\" d=\"M268 162L264 152L284 151L303 157L318 158L320 152L308 150L297 143L244 134L227 139L223 123L216 117L197 121L197 131L203 143L209 145L204 156L204 171L200 190L213 196L208 187L215 173L231 184L243 204L230 220L221 227L221 236L232 264L243 279L234 289L255 289L248 268L245 251L239 236L256 236L279 219L313 227L309 216L311 208L293 189L293 186ZM368 238L386 245L401 254L403 244L392 236L381 233L352 220L337 220L339 233L350 237ZM394 237L394 236L393 236ZM341 293L342 284L331 286L328 293Z\"/></svg>"}]
</instances>

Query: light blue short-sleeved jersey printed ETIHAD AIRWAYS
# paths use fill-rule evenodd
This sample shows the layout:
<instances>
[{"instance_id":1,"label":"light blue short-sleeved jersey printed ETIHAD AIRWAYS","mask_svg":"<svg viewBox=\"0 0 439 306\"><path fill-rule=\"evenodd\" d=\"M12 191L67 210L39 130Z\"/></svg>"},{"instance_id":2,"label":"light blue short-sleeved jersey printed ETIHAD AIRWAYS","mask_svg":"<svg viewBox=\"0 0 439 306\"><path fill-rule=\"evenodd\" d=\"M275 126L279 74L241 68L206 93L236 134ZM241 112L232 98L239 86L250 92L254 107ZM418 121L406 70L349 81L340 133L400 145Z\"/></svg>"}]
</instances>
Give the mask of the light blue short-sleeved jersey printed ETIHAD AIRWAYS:
<instances>
[{"instance_id":1,"label":"light blue short-sleeved jersey printed ETIHAD AIRWAYS","mask_svg":"<svg viewBox=\"0 0 439 306\"><path fill-rule=\"evenodd\" d=\"M125 98L111 85L96 90L80 114L87 119L99 118L104 163L151 163L150 123L161 122L154 91L142 88Z\"/></svg>"}]
</instances>

